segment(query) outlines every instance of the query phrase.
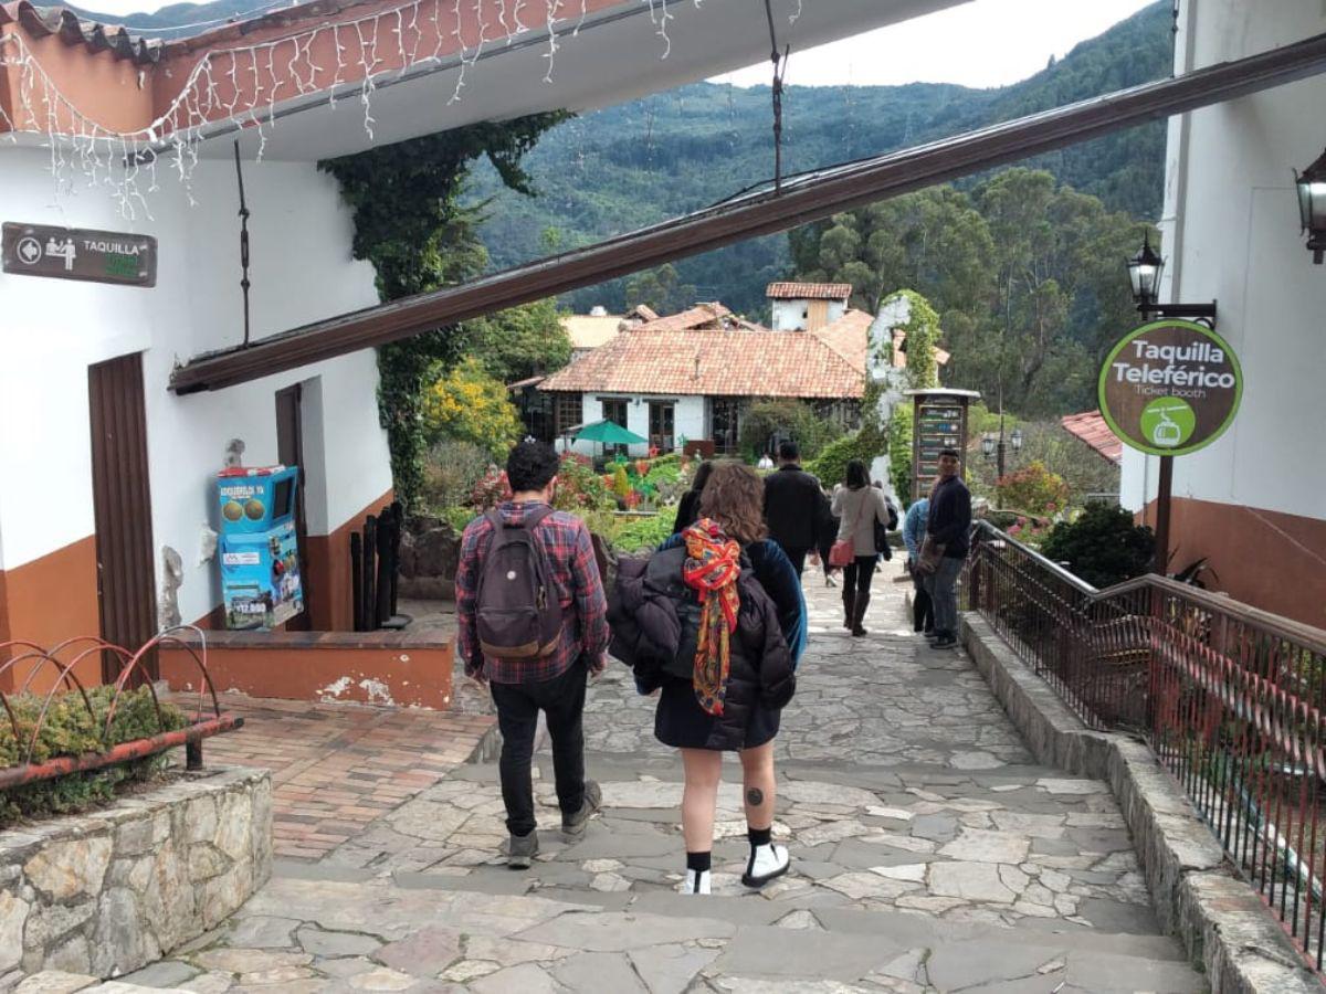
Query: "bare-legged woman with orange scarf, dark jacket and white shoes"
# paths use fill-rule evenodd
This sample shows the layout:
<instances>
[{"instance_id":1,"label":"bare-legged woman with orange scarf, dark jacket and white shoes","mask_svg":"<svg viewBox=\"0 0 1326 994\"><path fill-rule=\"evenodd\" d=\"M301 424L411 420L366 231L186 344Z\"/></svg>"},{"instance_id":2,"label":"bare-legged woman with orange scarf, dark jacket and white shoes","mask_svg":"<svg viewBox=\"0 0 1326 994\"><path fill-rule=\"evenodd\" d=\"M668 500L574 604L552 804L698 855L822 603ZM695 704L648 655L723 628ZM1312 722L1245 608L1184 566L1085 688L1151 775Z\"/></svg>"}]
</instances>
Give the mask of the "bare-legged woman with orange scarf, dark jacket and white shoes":
<instances>
[{"instance_id":1,"label":"bare-legged woman with orange scarf, dark jacket and white shoes","mask_svg":"<svg viewBox=\"0 0 1326 994\"><path fill-rule=\"evenodd\" d=\"M724 751L741 759L751 846L741 883L764 887L790 864L772 840L773 740L796 690L805 606L790 561L765 538L762 502L753 469L719 463L700 521L647 561L621 561L609 611L613 655L633 667L640 693L659 692L654 734L682 753L684 893L711 892Z\"/></svg>"}]
</instances>

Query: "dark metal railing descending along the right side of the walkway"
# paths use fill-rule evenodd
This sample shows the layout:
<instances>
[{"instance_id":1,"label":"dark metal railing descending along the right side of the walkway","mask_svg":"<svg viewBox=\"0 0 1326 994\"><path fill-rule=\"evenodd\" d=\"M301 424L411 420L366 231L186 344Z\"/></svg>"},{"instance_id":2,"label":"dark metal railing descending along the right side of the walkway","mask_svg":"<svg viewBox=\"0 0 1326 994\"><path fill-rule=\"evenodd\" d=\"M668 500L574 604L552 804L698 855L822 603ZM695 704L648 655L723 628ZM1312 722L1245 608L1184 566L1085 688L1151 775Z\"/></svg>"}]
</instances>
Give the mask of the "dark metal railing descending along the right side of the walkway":
<instances>
[{"instance_id":1,"label":"dark metal railing descending along the right side of the walkway","mask_svg":"<svg viewBox=\"0 0 1326 994\"><path fill-rule=\"evenodd\" d=\"M1326 632L1164 577L1095 590L984 522L964 598L1087 725L1146 737L1321 971Z\"/></svg>"}]
</instances>

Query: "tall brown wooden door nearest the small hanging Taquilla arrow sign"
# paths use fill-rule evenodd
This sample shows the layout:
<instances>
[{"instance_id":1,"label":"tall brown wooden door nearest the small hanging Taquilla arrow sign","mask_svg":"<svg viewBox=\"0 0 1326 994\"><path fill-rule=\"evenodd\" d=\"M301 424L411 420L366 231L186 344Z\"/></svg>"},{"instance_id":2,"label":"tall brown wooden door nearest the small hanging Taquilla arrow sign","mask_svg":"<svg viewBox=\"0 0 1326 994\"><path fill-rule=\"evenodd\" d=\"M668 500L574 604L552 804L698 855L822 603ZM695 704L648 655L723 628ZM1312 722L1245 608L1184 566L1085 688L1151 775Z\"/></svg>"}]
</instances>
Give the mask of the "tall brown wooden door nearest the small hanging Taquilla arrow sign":
<instances>
[{"instance_id":1,"label":"tall brown wooden door nearest the small hanging Taquilla arrow sign","mask_svg":"<svg viewBox=\"0 0 1326 994\"><path fill-rule=\"evenodd\" d=\"M142 354L90 366L88 399L101 637L134 652L156 634ZM155 680L155 656L146 663ZM102 677L110 681L118 673L118 661L107 653Z\"/></svg>"}]
</instances>

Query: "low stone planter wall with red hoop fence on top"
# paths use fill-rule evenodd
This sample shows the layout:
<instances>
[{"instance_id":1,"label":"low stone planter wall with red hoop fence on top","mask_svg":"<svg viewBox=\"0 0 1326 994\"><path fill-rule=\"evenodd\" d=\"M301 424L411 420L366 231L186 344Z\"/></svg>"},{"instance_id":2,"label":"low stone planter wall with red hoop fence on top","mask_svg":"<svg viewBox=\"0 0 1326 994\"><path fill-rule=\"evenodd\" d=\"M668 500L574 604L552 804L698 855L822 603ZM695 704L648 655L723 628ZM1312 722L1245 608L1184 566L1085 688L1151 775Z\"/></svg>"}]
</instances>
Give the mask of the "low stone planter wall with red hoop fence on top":
<instances>
[{"instance_id":1,"label":"low stone planter wall with red hoop fence on top","mask_svg":"<svg viewBox=\"0 0 1326 994\"><path fill-rule=\"evenodd\" d=\"M271 872L267 770L186 774L0 832L0 990L46 969L137 970L215 928Z\"/></svg>"}]
</instances>

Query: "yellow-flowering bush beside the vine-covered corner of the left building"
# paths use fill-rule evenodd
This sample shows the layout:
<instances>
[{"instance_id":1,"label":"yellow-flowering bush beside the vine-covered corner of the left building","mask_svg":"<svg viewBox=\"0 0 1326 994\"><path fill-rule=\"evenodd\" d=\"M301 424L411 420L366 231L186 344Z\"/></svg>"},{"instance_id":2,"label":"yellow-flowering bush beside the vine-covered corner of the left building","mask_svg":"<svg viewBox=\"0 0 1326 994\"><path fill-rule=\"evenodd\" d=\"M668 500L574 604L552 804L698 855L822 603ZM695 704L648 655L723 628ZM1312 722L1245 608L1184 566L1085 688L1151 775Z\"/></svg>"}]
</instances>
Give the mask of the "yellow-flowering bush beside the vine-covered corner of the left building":
<instances>
[{"instance_id":1,"label":"yellow-flowering bush beside the vine-covered corner of the left building","mask_svg":"<svg viewBox=\"0 0 1326 994\"><path fill-rule=\"evenodd\" d=\"M488 452L496 461L521 435L520 417L507 398L507 387L484 372L473 357L444 372L424 394L423 419L426 439L468 441Z\"/></svg>"}]
</instances>

